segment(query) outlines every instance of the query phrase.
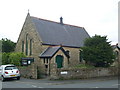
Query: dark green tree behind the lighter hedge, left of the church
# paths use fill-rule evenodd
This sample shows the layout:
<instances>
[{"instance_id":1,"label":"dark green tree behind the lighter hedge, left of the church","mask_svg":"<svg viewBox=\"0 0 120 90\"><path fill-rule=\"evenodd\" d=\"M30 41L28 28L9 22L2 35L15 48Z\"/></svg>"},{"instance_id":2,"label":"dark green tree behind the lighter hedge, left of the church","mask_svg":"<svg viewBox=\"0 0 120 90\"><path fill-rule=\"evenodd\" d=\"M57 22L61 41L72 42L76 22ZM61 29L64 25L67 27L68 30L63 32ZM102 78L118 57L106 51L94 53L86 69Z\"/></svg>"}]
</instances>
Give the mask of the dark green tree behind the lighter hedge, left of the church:
<instances>
[{"instance_id":1,"label":"dark green tree behind the lighter hedge, left of the church","mask_svg":"<svg viewBox=\"0 0 120 90\"><path fill-rule=\"evenodd\" d=\"M2 39L2 52L13 52L15 49L16 43L9 39Z\"/></svg>"}]
</instances>

